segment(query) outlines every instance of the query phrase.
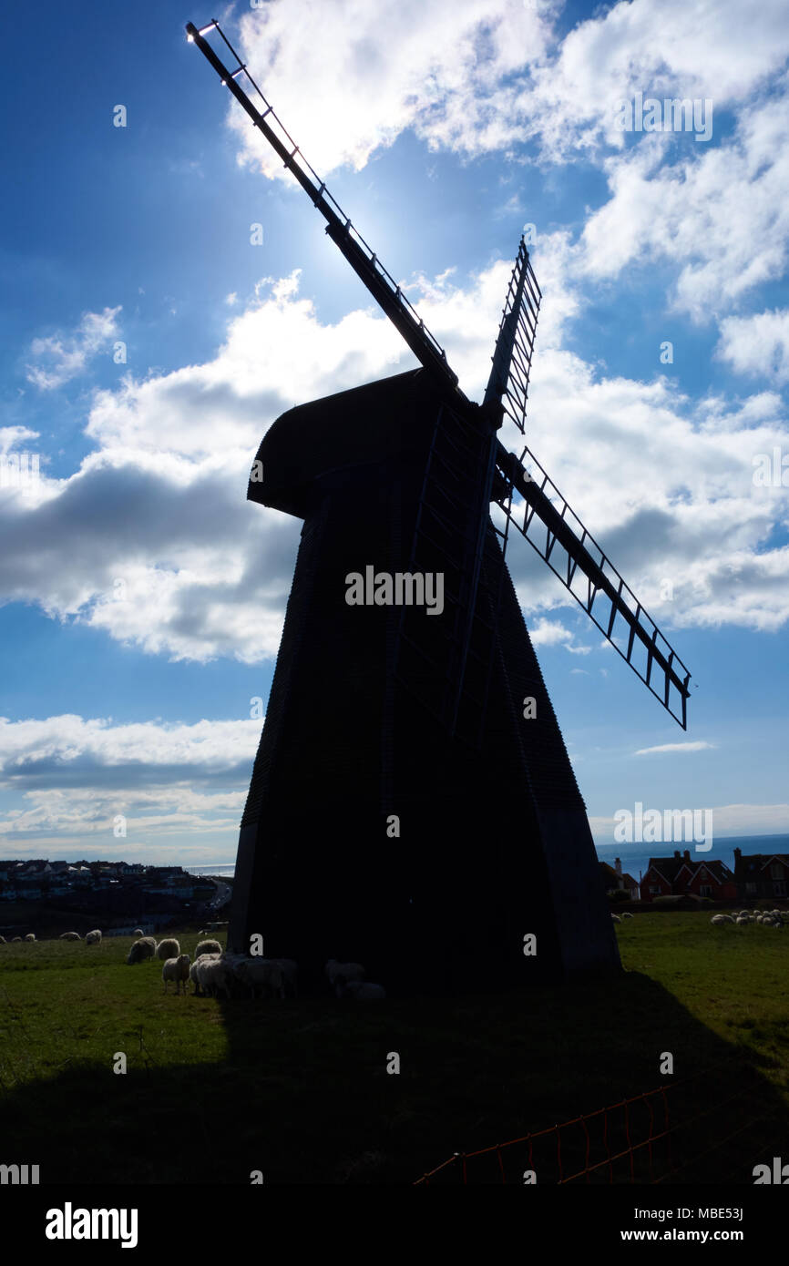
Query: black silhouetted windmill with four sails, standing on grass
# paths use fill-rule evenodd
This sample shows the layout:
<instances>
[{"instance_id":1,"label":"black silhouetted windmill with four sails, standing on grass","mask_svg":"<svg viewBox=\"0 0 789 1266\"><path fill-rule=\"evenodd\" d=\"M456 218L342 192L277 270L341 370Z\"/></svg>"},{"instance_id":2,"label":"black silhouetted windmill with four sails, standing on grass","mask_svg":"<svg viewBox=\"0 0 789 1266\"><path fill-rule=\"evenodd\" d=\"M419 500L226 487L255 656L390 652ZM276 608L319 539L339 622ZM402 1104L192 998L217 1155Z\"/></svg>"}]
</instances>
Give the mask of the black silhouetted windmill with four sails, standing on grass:
<instances>
[{"instance_id":1,"label":"black silhouetted windmill with four sails, standing on grass","mask_svg":"<svg viewBox=\"0 0 789 1266\"><path fill-rule=\"evenodd\" d=\"M329 957L358 961L395 991L615 971L584 801L504 561L510 533L683 728L690 675L533 453L498 437L505 420L524 430L542 299L526 243L475 404L218 23L186 32L419 362L290 409L257 452L248 499L304 525L228 944L248 952L261 934L308 985Z\"/></svg>"}]
</instances>

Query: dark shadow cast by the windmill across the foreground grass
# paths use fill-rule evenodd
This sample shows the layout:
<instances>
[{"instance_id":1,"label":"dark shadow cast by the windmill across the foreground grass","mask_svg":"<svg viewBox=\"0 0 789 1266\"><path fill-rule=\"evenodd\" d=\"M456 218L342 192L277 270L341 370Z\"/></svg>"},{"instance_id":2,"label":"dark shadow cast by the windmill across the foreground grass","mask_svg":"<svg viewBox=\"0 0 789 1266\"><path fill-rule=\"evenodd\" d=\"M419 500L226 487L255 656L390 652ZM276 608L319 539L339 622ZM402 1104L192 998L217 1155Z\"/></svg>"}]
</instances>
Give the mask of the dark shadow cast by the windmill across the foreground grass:
<instances>
[{"instance_id":1,"label":"dark shadow cast by the windmill across the foreground grass","mask_svg":"<svg viewBox=\"0 0 789 1266\"><path fill-rule=\"evenodd\" d=\"M172 1004L200 1008L206 1025L222 1023L224 1058L167 1067L139 1058L124 1077L85 1067L5 1090L6 1160L38 1163L42 1182L63 1185L247 1185L253 1171L266 1184L399 1185L456 1151L659 1086L669 1095L670 1152L656 1146L653 1172L636 1169L636 1182L747 1185L756 1163L789 1156L789 1113L770 1069L640 972L367 1006L331 998ZM395 1052L400 1071L390 1074ZM665 1052L672 1076L659 1072ZM638 1129L633 1115L633 1142ZM571 1139L564 1156L567 1174ZM512 1181L523 1161L517 1177L509 1170ZM536 1163L538 1185L556 1181L547 1153ZM480 1162L469 1181L502 1179ZM613 1181L631 1181L627 1163Z\"/></svg>"}]
</instances>

